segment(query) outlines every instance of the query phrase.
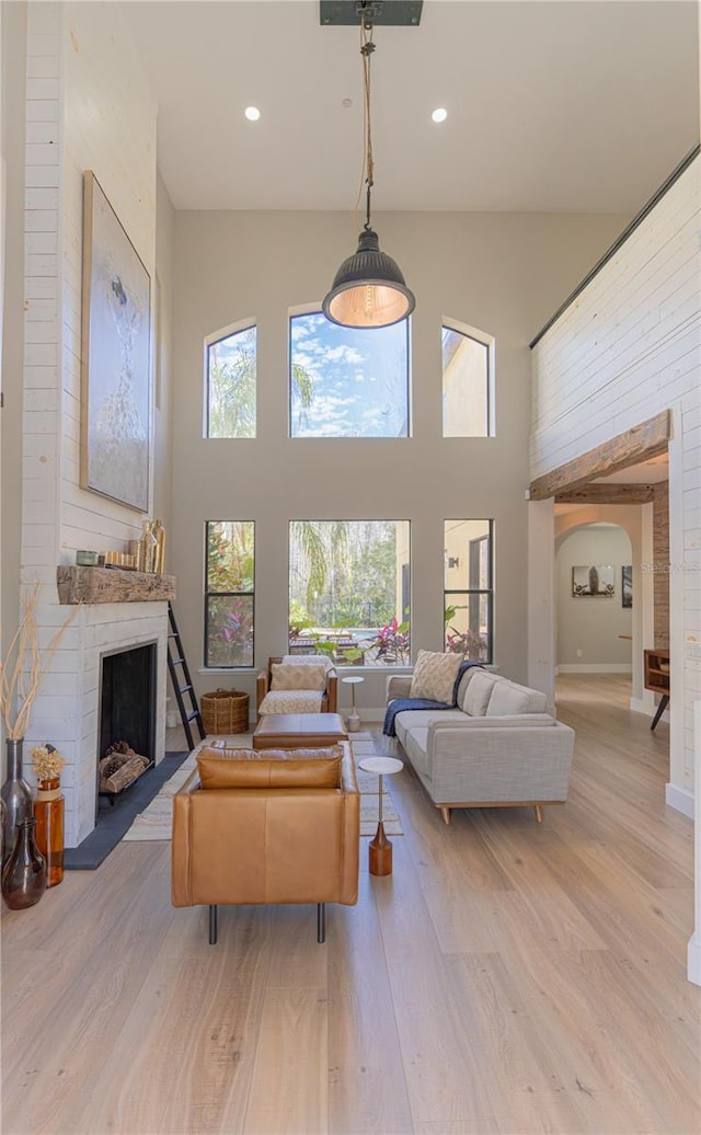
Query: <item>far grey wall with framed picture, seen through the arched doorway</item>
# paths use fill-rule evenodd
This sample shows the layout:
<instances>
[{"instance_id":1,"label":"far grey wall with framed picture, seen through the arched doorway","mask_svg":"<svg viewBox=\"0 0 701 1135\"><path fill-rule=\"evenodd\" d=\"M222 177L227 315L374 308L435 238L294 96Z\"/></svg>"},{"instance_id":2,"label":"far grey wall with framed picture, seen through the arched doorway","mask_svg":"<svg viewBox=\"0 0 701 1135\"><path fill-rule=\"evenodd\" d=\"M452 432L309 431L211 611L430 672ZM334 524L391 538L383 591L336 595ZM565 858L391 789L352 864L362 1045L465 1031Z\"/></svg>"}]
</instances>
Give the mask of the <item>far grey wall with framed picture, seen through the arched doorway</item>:
<instances>
[{"instance_id":1,"label":"far grey wall with framed picture, seen through the arched doorway","mask_svg":"<svg viewBox=\"0 0 701 1135\"><path fill-rule=\"evenodd\" d=\"M611 564L616 592L610 599L575 598L573 566ZM622 605L620 569L633 565L631 540L623 528L590 524L561 537L556 558L557 665L563 670L631 667L633 611ZM581 656L577 656L581 650Z\"/></svg>"}]
</instances>

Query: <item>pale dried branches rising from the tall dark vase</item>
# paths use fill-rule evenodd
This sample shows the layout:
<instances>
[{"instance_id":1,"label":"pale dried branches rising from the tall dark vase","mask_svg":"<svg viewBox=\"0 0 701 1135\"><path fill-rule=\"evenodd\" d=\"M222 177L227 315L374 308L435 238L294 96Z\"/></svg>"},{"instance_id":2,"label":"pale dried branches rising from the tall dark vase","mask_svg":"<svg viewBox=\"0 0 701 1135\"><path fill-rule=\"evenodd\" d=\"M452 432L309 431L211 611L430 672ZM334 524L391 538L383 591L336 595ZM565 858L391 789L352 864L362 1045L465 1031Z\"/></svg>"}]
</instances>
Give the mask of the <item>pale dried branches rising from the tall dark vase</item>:
<instances>
[{"instance_id":1,"label":"pale dried branches rising from the tall dark vase","mask_svg":"<svg viewBox=\"0 0 701 1135\"><path fill-rule=\"evenodd\" d=\"M78 607L74 607L49 645L42 649L36 624L40 591L41 585L35 583L22 600L19 627L5 658L0 659L0 714L8 738L14 740L25 735L42 679L49 671L64 631L78 611Z\"/></svg>"}]
</instances>

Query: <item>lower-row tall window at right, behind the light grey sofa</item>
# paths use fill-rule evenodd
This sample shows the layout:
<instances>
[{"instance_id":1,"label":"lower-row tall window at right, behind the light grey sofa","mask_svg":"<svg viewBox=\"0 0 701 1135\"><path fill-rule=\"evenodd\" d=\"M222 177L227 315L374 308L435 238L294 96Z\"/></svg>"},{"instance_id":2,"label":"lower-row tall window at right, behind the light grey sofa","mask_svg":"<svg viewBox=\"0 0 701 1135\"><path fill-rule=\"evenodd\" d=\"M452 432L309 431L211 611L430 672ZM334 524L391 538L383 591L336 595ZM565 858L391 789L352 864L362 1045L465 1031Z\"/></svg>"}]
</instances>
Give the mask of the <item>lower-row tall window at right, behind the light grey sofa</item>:
<instances>
[{"instance_id":1,"label":"lower-row tall window at right, behind the light grey sofa","mask_svg":"<svg viewBox=\"0 0 701 1135\"><path fill-rule=\"evenodd\" d=\"M444 649L491 662L493 521L446 520L444 529Z\"/></svg>"}]
</instances>

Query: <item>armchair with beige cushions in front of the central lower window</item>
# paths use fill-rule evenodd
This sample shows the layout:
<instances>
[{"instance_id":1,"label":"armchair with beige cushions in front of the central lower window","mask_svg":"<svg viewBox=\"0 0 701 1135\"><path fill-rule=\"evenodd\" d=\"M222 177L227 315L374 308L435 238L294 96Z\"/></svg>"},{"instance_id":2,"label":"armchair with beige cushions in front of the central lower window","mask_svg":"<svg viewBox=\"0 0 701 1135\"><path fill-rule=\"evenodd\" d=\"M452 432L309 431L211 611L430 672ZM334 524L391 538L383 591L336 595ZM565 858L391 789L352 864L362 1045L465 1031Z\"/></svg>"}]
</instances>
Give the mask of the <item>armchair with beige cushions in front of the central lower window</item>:
<instances>
[{"instance_id":1,"label":"armchair with beige cushions in front of the central lower window","mask_svg":"<svg viewBox=\"0 0 701 1135\"><path fill-rule=\"evenodd\" d=\"M326 655L269 658L256 679L257 720L269 713L336 713L338 675Z\"/></svg>"}]
</instances>

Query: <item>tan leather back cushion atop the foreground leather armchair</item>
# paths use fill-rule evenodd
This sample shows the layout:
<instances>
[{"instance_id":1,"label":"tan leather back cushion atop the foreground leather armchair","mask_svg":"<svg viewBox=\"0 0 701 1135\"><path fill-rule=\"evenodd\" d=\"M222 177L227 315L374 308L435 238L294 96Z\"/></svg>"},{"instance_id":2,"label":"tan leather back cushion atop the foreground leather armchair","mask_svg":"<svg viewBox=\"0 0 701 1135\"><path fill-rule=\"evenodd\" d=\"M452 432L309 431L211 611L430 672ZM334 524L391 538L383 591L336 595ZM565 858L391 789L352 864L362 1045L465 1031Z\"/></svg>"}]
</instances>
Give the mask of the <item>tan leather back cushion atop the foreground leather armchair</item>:
<instances>
[{"instance_id":1,"label":"tan leather back cushion atop the foreground leather armchair","mask_svg":"<svg viewBox=\"0 0 701 1135\"><path fill-rule=\"evenodd\" d=\"M203 789L338 788L343 749L204 750L197 757ZM223 756L222 756L223 753Z\"/></svg>"}]
</instances>

